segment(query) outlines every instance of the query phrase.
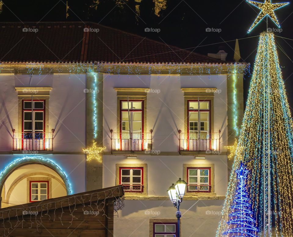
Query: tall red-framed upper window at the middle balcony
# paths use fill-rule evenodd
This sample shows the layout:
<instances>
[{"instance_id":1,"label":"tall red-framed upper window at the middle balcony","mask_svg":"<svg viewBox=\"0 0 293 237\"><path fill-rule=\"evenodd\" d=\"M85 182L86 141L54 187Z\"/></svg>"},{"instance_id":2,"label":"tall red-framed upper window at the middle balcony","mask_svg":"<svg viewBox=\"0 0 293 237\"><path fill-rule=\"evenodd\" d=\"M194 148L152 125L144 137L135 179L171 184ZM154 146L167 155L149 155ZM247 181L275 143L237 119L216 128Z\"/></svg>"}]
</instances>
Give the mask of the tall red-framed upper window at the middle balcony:
<instances>
[{"instance_id":1,"label":"tall red-framed upper window at the middle balcony","mask_svg":"<svg viewBox=\"0 0 293 237\"><path fill-rule=\"evenodd\" d=\"M121 139L141 139L143 133L143 101L121 100L120 106L120 133Z\"/></svg>"}]
</instances>

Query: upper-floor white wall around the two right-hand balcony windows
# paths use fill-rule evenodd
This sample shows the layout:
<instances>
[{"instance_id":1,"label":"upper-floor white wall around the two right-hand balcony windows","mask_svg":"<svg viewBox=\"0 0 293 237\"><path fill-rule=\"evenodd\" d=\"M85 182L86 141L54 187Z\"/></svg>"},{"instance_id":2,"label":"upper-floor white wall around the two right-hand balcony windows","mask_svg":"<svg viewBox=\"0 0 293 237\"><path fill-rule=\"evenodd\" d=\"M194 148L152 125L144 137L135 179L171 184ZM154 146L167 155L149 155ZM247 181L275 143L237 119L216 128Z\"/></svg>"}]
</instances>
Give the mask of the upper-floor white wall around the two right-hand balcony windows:
<instances>
[{"instance_id":1,"label":"upper-floor white wall around the two right-hand balcony windows","mask_svg":"<svg viewBox=\"0 0 293 237\"><path fill-rule=\"evenodd\" d=\"M111 149L110 129L117 128L117 92L115 87L150 88L159 93L147 94L147 132L153 133L153 150L177 152L178 130L184 131L184 97L181 88L217 88L214 97L214 132L221 130L221 150L227 144L226 76L127 76L105 74L104 90L104 146Z\"/></svg>"}]
</instances>

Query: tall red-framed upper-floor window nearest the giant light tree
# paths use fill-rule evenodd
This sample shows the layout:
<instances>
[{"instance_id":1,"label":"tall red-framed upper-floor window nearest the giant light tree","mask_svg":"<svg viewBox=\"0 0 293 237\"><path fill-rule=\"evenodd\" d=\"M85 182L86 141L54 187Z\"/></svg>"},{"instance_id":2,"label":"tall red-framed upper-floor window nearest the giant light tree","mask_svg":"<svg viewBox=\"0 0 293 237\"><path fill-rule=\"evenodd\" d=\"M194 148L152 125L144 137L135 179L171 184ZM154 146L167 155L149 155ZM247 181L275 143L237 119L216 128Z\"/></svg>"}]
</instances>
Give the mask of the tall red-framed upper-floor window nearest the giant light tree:
<instances>
[{"instance_id":1,"label":"tall red-framed upper-floor window nearest the giant light tree","mask_svg":"<svg viewBox=\"0 0 293 237\"><path fill-rule=\"evenodd\" d=\"M211 101L189 100L187 104L189 139L207 139L211 133Z\"/></svg>"}]
</instances>

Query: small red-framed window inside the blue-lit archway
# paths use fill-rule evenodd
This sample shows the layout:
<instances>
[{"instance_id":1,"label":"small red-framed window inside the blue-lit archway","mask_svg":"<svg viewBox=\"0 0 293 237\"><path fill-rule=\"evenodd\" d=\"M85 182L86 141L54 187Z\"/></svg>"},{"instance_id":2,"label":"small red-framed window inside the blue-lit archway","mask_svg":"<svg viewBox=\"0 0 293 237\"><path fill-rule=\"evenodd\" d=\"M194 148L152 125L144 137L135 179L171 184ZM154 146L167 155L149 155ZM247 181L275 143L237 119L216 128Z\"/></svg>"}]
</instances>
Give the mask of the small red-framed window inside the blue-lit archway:
<instances>
[{"instance_id":1,"label":"small red-framed window inside the blue-lit archway","mask_svg":"<svg viewBox=\"0 0 293 237\"><path fill-rule=\"evenodd\" d=\"M49 181L30 181L30 202L49 198Z\"/></svg>"}]
</instances>

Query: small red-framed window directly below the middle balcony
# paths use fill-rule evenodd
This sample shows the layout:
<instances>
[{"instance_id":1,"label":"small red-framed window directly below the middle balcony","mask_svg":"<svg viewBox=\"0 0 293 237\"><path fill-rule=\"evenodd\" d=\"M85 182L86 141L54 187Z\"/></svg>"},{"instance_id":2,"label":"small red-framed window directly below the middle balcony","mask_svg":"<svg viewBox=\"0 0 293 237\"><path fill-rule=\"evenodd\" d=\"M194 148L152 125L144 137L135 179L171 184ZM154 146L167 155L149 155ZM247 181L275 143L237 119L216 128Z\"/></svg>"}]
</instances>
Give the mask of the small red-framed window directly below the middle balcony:
<instances>
[{"instance_id":1,"label":"small red-framed window directly below the middle balcony","mask_svg":"<svg viewBox=\"0 0 293 237\"><path fill-rule=\"evenodd\" d=\"M143 192L143 167L120 167L120 184L126 192Z\"/></svg>"}]
</instances>

